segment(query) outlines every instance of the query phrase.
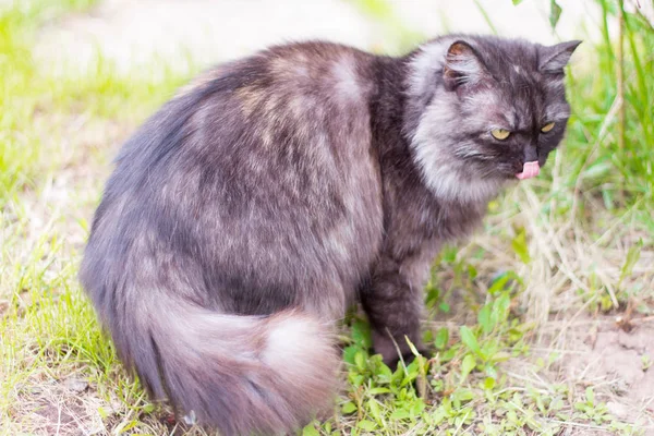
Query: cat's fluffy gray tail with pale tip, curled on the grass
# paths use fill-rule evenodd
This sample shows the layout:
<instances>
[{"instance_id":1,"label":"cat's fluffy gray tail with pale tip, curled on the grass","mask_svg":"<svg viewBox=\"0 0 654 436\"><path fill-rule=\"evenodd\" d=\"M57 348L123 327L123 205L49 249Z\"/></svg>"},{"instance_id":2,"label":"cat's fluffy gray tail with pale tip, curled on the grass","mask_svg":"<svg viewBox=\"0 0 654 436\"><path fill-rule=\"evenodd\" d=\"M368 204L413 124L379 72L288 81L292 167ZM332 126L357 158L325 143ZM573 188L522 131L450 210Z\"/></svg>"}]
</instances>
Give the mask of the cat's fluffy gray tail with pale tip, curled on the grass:
<instances>
[{"instance_id":1,"label":"cat's fluffy gray tail with pale tip, curled on the grass","mask_svg":"<svg viewBox=\"0 0 654 436\"><path fill-rule=\"evenodd\" d=\"M112 326L125 364L222 436L287 433L331 404L339 359L329 326L308 314L226 315L174 299L137 312Z\"/></svg>"}]
</instances>

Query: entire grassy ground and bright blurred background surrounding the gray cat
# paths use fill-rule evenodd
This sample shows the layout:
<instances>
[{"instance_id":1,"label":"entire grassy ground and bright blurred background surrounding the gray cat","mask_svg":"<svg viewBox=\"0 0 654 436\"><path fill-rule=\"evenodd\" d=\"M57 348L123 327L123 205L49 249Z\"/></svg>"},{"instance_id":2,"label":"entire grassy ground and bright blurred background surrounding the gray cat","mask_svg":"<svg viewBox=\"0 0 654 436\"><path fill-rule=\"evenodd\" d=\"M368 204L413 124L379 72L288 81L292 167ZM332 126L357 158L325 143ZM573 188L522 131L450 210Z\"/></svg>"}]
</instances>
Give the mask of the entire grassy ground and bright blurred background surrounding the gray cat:
<instances>
[{"instance_id":1,"label":"entire grassy ground and bright blurred background surrounding the gray cat","mask_svg":"<svg viewBox=\"0 0 654 436\"><path fill-rule=\"evenodd\" d=\"M356 314L315 435L654 435L652 0L0 0L0 435L205 435L120 364L77 282L121 144L208 65L320 38L584 44L541 177L435 259L434 353L391 373ZM412 388L416 387L416 389Z\"/></svg>"}]
</instances>

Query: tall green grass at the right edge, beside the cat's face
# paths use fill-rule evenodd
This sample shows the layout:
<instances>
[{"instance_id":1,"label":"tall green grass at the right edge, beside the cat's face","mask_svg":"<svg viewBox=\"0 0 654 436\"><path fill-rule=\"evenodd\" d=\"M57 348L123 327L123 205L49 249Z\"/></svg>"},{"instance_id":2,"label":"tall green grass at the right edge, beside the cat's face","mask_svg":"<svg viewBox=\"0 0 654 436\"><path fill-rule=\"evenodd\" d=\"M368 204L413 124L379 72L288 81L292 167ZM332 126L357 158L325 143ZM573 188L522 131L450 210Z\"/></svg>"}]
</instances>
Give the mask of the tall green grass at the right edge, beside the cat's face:
<instances>
[{"instance_id":1,"label":"tall green grass at the right edge, beside the cat's face","mask_svg":"<svg viewBox=\"0 0 654 436\"><path fill-rule=\"evenodd\" d=\"M598 196L607 209L639 205L647 211L654 206L654 28L640 14L622 14L625 87L620 96L619 41L609 35L607 24L618 17L619 7L609 0L597 3L604 16L603 39L586 49L596 66L583 69L591 73L581 76L571 70L569 95L574 111L566 157L572 165L566 184L574 186L577 195ZM651 220L643 223L651 226Z\"/></svg>"}]
</instances>

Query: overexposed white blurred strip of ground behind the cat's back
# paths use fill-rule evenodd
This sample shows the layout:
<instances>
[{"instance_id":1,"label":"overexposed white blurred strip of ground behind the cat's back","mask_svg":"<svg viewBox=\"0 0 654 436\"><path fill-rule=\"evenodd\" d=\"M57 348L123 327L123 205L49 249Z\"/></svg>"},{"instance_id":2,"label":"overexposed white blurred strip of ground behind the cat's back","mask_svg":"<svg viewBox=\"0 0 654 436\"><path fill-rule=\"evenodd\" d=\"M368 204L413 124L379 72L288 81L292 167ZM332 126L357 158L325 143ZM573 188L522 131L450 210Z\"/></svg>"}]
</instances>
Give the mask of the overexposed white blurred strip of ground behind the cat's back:
<instances>
[{"instance_id":1,"label":"overexposed white blurred strip of ground behind the cat's back","mask_svg":"<svg viewBox=\"0 0 654 436\"><path fill-rule=\"evenodd\" d=\"M628 0L652 19L650 0ZM602 38L602 3L559 0L100 0L89 14L46 26L37 53L59 68L84 66L97 53L122 71L161 57L172 68L225 61L267 45L307 38L401 53L450 32L496 33L542 44ZM555 12L556 13L556 12ZM617 20L608 17L609 32ZM62 66L64 65L64 66Z\"/></svg>"}]
</instances>

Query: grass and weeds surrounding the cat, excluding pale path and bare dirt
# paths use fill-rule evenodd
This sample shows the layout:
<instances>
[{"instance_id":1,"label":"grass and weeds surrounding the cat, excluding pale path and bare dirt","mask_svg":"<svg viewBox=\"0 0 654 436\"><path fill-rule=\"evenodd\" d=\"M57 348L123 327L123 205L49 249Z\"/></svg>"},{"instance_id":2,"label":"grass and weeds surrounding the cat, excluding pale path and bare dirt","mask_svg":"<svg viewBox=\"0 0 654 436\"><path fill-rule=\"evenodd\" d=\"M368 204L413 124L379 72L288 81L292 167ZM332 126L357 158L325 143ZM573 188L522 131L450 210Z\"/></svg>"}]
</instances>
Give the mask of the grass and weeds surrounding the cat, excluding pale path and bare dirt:
<instances>
[{"instance_id":1,"label":"grass and weeds surrounding the cat, excluding pale path and bare dirt","mask_svg":"<svg viewBox=\"0 0 654 436\"><path fill-rule=\"evenodd\" d=\"M157 61L157 80L122 75L101 56L61 76L33 58L39 25L92 5L35 0L0 12L0 434L175 431L120 365L76 270L117 146L189 77ZM395 26L384 2L359 5ZM616 43L605 34L570 69L573 117L545 177L494 202L484 231L436 259L425 290L434 354L391 371L370 354L363 317L350 314L334 417L304 435L641 434L652 425L652 412L615 383L567 373L589 329L615 316L654 334L654 60L645 49L654 31L626 17L621 148ZM416 37L402 35L401 46ZM634 413L620 416L615 403Z\"/></svg>"}]
</instances>

